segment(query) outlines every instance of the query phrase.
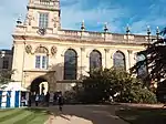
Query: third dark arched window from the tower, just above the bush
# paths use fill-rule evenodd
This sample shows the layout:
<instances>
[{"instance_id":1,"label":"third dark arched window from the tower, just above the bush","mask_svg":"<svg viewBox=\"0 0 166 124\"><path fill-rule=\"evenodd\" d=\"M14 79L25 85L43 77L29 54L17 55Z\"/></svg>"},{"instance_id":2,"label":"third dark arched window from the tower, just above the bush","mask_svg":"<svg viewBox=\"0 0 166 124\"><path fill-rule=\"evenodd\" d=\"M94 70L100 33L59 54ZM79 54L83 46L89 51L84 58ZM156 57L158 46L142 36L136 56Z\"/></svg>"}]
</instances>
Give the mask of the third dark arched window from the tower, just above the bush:
<instances>
[{"instance_id":1,"label":"third dark arched window from the tower, just above the bush","mask_svg":"<svg viewBox=\"0 0 166 124\"><path fill-rule=\"evenodd\" d=\"M126 70L125 55L121 51L116 51L114 53L114 68Z\"/></svg>"}]
</instances>

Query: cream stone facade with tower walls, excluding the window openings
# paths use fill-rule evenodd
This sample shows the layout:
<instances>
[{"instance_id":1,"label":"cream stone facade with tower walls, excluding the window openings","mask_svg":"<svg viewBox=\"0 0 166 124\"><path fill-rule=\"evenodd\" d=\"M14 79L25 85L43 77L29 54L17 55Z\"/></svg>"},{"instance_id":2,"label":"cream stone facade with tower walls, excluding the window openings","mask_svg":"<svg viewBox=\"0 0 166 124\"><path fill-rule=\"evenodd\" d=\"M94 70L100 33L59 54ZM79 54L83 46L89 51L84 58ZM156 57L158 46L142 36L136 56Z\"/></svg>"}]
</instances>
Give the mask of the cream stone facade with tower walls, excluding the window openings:
<instances>
[{"instance_id":1,"label":"cream stone facade with tower walls, excluding the window openings","mask_svg":"<svg viewBox=\"0 0 166 124\"><path fill-rule=\"evenodd\" d=\"M39 28L39 13L49 13L48 27ZM102 54L102 66L113 66L113 55L121 51L125 55L126 70L136 62L135 54L145 49L147 35L116 34L105 32L90 32L63 30L60 22L60 1L30 0L25 21L20 20L13 32L13 64L17 70L12 75L14 81L29 87L37 78L44 78L49 82L49 90L69 90L71 84L79 81L81 75L90 71L90 53L97 50ZM49 58L46 69L35 68L37 49L43 48L43 54ZM65 81L64 53L72 49L77 53L76 80Z\"/></svg>"}]
</instances>

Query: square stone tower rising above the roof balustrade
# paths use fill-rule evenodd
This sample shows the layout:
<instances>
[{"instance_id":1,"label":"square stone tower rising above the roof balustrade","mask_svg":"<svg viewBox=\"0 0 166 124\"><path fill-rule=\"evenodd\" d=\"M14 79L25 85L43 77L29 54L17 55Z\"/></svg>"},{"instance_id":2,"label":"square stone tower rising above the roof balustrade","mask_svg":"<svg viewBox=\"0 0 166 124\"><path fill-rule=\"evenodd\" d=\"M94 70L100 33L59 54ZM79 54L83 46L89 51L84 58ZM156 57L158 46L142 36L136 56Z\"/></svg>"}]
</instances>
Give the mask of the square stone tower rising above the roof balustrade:
<instances>
[{"instance_id":1,"label":"square stone tower rising above the roof balustrade","mask_svg":"<svg viewBox=\"0 0 166 124\"><path fill-rule=\"evenodd\" d=\"M49 30L55 33L60 28L60 0L29 0L24 25L29 31L44 33Z\"/></svg>"}]
</instances>

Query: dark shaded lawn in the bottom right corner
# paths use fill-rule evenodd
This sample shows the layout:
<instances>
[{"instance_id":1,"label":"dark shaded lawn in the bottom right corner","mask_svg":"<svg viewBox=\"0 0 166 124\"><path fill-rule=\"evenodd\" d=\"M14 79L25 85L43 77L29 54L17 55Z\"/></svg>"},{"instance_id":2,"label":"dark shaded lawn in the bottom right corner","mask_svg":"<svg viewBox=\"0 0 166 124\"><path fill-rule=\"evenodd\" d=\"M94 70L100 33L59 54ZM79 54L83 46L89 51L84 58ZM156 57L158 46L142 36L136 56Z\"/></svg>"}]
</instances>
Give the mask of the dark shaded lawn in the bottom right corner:
<instances>
[{"instance_id":1,"label":"dark shaded lawn in the bottom right corner","mask_svg":"<svg viewBox=\"0 0 166 124\"><path fill-rule=\"evenodd\" d=\"M117 111L116 115L129 124L166 124L164 108L129 108Z\"/></svg>"}]
</instances>

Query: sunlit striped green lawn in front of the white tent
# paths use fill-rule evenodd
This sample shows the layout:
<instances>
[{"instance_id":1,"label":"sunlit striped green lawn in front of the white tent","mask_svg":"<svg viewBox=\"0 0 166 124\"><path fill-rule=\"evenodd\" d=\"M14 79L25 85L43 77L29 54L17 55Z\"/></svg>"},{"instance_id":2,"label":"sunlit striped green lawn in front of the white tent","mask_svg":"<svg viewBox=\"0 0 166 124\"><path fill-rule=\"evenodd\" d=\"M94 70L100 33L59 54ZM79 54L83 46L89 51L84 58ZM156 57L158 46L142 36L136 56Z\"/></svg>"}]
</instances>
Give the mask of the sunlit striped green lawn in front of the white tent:
<instances>
[{"instance_id":1,"label":"sunlit striped green lawn in front of the white tent","mask_svg":"<svg viewBox=\"0 0 166 124\"><path fill-rule=\"evenodd\" d=\"M43 108L0 110L0 124L44 124L48 118Z\"/></svg>"}]
</instances>

